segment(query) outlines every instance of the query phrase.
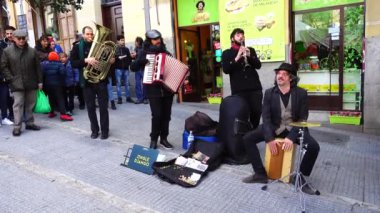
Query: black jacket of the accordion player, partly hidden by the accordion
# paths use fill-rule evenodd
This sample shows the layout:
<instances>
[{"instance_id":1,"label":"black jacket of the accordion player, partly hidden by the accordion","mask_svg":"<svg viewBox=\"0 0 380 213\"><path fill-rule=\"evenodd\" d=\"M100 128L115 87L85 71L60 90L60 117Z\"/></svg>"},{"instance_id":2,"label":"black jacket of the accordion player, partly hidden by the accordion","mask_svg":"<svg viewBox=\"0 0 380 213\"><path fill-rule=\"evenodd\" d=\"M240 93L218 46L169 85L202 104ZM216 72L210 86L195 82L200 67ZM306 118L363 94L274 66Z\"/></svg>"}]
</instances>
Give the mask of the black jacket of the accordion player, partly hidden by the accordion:
<instances>
[{"instance_id":1,"label":"black jacket of the accordion player, partly hidden by the accordion","mask_svg":"<svg viewBox=\"0 0 380 213\"><path fill-rule=\"evenodd\" d=\"M158 54L158 53L166 53L171 55L166 48L164 47L155 47L153 45L150 45L148 47L144 47L144 49L136 56L136 60L132 62L131 67L134 69L134 67L145 67L145 65L148 63L148 60L146 59L147 54ZM145 73L144 73L145 74ZM158 98L158 97L165 97L165 96L172 96L173 93L164 87L164 85L160 82L154 82L152 84L144 84L144 88L146 89L146 95L148 98Z\"/></svg>"}]
</instances>

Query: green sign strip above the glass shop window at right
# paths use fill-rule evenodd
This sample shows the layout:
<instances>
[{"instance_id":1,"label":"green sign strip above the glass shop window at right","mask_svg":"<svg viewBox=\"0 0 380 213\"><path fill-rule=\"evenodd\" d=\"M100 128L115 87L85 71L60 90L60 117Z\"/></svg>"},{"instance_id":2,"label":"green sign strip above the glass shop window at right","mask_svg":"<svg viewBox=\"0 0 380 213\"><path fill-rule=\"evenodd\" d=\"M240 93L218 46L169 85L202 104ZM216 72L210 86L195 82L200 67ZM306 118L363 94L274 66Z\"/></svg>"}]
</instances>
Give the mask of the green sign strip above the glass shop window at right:
<instances>
[{"instance_id":1,"label":"green sign strip above the glass shop window at right","mask_svg":"<svg viewBox=\"0 0 380 213\"><path fill-rule=\"evenodd\" d=\"M293 11L364 2L364 0L293 0Z\"/></svg>"}]
</instances>

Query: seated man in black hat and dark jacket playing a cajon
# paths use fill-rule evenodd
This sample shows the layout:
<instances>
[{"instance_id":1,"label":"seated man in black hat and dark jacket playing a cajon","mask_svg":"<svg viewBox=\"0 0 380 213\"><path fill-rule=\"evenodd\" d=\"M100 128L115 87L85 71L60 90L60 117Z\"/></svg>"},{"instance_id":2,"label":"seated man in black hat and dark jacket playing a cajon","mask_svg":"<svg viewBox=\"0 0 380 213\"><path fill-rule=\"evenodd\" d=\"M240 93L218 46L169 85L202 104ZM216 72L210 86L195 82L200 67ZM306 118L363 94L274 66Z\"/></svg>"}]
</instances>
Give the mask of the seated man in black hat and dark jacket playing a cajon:
<instances>
[{"instance_id":1,"label":"seated man in black hat and dark jacket playing a cajon","mask_svg":"<svg viewBox=\"0 0 380 213\"><path fill-rule=\"evenodd\" d=\"M243 179L244 183L267 183L268 177L260 158L257 143L265 141L272 155L278 153L277 141L275 138L284 138L282 148L287 151L293 147L293 143L299 143L299 127L292 127L292 122L306 121L308 117L307 92L297 87L297 70L288 63L282 63L275 69L275 86L267 89L263 103L263 124L256 130L244 135L244 145L248 157L252 163L254 175ZM309 134L307 128L304 131L304 144L307 150L301 162L300 171L303 175L309 176L319 153L319 144ZM301 184L306 183L301 177ZM302 191L314 194L314 191L305 185Z\"/></svg>"}]
</instances>

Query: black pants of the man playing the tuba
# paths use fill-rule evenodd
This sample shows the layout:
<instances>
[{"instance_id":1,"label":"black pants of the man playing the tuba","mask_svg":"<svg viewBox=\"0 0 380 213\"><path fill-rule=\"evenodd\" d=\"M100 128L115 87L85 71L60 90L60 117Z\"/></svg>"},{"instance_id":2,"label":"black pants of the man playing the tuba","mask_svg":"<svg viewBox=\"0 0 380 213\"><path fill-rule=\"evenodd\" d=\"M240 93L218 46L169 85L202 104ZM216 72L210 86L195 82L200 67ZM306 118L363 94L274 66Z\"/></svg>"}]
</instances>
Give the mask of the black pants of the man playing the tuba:
<instances>
[{"instance_id":1,"label":"black pants of the man playing the tuba","mask_svg":"<svg viewBox=\"0 0 380 213\"><path fill-rule=\"evenodd\" d=\"M100 113L100 130L104 134L108 134L109 117L108 117L108 92L107 82L97 84L87 83L83 88L84 100L87 105L88 118L91 122L91 131L99 132L98 118L96 115L95 99L98 98L99 113Z\"/></svg>"}]
</instances>

